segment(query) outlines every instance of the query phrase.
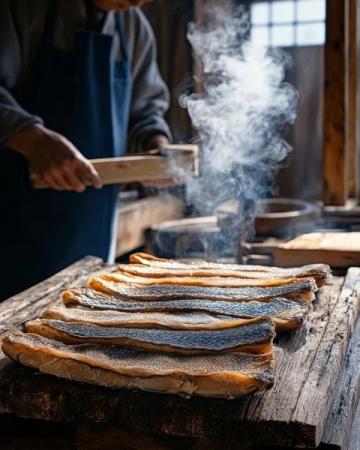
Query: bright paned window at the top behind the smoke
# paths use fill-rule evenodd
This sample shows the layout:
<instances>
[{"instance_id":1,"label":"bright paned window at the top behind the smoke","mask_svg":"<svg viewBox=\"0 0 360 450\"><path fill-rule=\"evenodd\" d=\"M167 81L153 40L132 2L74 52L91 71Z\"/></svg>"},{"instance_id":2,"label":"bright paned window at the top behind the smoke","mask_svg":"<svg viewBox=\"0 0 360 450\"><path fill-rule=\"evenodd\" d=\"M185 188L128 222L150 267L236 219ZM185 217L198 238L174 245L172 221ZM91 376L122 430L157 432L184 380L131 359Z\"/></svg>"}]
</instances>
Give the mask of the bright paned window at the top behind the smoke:
<instances>
[{"instance_id":1,"label":"bright paned window at the top behind the smoke","mask_svg":"<svg viewBox=\"0 0 360 450\"><path fill-rule=\"evenodd\" d=\"M251 39L267 47L325 43L326 0L268 0L251 5Z\"/></svg>"}]
</instances>

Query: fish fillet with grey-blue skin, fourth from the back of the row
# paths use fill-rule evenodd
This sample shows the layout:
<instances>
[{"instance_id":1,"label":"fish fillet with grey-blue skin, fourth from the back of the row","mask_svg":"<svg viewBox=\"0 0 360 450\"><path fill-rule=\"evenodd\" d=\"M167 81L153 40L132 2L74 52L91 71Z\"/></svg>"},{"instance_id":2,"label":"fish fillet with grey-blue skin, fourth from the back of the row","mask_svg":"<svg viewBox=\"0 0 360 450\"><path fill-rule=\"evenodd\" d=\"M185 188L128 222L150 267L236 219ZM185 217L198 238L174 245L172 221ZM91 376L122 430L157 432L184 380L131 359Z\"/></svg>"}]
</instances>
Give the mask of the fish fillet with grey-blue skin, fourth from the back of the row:
<instances>
[{"instance_id":1,"label":"fish fillet with grey-blue skin, fourth from the back of the row","mask_svg":"<svg viewBox=\"0 0 360 450\"><path fill-rule=\"evenodd\" d=\"M103 277L93 277L88 286L96 291L111 294L122 300L219 300L219 301L267 301L274 297L286 297L294 300L311 302L314 300L316 284L312 279L296 280L282 286L269 287L209 287L209 286L179 286L150 285L138 286L114 282Z\"/></svg>"}]
</instances>

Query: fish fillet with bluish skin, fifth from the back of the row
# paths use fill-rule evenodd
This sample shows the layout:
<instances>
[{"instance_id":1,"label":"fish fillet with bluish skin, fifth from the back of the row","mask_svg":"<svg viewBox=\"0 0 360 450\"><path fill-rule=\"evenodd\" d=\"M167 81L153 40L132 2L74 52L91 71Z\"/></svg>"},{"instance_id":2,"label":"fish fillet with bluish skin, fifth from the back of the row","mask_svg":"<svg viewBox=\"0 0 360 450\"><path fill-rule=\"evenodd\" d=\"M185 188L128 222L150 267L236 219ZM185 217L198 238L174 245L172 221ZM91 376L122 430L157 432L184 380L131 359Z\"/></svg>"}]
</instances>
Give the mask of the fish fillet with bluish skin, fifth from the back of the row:
<instances>
[{"instance_id":1,"label":"fish fillet with bluish skin, fifth from the back of the row","mask_svg":"<svg viewBox=\"0 0 360 450\"><path fill-rule=\"evenodd\" d=\"M62 300L66 305L77 305L83 308L94 308L100 311L93 311L94 313L110 314L114 321L119 319L115 314L117 312L131 313L132 319L127 319L129 324L135 325L136 313L207 313L207 314L220 314L226 317L234 318L251 318L268 316L273 319L277 330L290 330L299 328L305 319L305 315L308 311L308 306L305 303L300 303L292 300L286 300L283 298L274 298L271 302L226 302L226 301L213 301L213 300L173 300L173 301L155 301L155 302L141 302L141 301L126 301L119 298L112 297L101 292L96 292L92 289L69 289L62 293ZM75 318L81 316L82 312L88 314L87 309L67 308L67 316L53 315L51 313L47 315L48 318L57 318L61 320L69 320L69 315L73 315ZM80 313L81 311L81 313ZM91 311L90 311L91 312ZM54 313L53 313L54 314ZM66 319L68 317L68 319ZM155 317L155 316L153 316ZM93 317L94 323L96 318ZM110 319L109 319L110 320ZM142 319L139 319L139 321ZM149 320L150 318L146 318ZM165 319L164 319L165 320ZM76 320L75 320L76 321ZM80 320L79 320L80 321ZM102 324L104 325L104 323ZM129 325L130 326L130 325Z\"/></svg>"}]
</instances>

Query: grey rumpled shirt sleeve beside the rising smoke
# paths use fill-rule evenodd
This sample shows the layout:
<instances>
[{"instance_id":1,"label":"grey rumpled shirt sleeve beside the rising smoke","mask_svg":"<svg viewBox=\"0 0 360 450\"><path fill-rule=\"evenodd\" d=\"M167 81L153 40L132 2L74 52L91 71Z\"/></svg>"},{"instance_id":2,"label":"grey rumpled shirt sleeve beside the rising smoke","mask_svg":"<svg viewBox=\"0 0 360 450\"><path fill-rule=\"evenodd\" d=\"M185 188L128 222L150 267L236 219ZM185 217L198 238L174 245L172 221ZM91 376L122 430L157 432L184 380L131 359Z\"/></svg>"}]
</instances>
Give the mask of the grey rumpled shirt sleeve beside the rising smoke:
<instances>
[{"instance_id":1,"label":"grey rumpled shirt sleeve beside the rising smoke","mask_svg":"<svg viewBox=\"0 0 360 450\"><path fill-rule=\"evenodd\" d=\"M129 121L129 150L141 151L143 141L153 134L171 140L164 115L169 92L157 65L155 36L144 14L136 9L135 45L132 58L132 103Z\"/></svg>"}]
</instances>

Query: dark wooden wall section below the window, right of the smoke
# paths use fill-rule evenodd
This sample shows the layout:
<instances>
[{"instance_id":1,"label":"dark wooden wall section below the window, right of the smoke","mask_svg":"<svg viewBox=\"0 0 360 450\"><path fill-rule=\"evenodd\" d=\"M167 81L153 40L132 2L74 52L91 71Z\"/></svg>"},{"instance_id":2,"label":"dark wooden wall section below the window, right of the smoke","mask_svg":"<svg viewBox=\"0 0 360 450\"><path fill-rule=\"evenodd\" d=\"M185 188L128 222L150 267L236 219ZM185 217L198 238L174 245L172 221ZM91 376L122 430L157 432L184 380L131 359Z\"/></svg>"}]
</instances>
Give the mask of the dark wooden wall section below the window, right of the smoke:
<instances>
[{"instance_id":1,"label":"dark wooden wall section below the window, right of the smoke","mask_svg":"<svg viewBox=\"0 0 360 450\"><path fill-rule=\"evenodd\" d=\"M322 195L324 48L286 49L293 63L286 79L299 92L297 119L288 134L293 151L279 172L279 194L306 200Z\"/></svg>"}]
</instances>

